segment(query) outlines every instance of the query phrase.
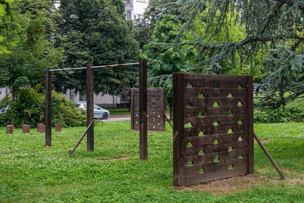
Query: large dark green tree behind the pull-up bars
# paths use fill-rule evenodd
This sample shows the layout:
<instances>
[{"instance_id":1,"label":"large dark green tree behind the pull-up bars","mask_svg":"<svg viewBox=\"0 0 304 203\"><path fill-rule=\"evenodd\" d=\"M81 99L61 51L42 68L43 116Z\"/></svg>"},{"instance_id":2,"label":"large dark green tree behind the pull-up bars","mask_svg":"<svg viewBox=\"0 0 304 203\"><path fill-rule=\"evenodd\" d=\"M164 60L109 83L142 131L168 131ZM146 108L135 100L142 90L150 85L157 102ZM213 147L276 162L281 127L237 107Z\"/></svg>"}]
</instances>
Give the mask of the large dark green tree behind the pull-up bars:
<instances>
[{"instance_id":1,"label":"large dark green tree behind the pull-up bars","mask_svg":"<svg viewBox=\"0 0 304 203\"><path fill-rule=\"evenodd\" d=\"M84 67L87 62L106 65L137 61L139 46L134 39L133 23L125 19L124 8L124 2L119 0L62 0L59 7L62 17L56 36L58 46L65 49L62 67ZM120 84L130 89L137 75L138 66L95 69L94 91L104 94L109 86L108 93L117 95ZM86 92L85 70L56 73L55 77L58 91Z\"/></svg>"}]
</instances>

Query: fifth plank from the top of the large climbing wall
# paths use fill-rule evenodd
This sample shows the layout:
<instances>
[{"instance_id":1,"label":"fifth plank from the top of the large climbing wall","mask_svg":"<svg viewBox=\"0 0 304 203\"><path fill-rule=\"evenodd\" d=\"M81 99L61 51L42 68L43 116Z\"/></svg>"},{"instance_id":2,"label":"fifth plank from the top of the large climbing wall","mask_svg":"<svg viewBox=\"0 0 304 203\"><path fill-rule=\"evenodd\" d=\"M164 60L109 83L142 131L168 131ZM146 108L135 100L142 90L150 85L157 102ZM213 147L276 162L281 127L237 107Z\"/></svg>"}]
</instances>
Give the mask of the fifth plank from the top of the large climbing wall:
<instances>
[{"instance_id":1,"label":"fifth plank from the top of the large climbing wall","mask_svg":"<svg viewBox=\"0 0 304 203\"><path fill-rule=\"evenodd\" d=\"M184 118L184 124L192 123L193 127L214 125L218 122L219 125L236 124L239 120L243 123L247 122L247 114L241 115L225 115L225 116L205 116L205 117L187 117ZM221 133L219 133L221 134Z\"/></svg>"}]
</instances>

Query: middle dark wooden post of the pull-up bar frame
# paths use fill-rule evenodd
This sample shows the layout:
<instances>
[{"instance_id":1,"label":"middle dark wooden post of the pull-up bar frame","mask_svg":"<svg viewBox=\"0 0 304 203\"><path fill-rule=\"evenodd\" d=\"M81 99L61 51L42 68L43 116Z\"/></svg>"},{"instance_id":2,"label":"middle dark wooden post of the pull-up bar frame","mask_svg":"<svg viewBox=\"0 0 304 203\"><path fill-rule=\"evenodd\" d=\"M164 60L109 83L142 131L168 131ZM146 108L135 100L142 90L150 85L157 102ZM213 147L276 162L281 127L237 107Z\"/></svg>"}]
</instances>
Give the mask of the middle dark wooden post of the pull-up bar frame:
<instances>
[{"instance_id":1,"label":"middle dark wooden post of the pull-up bar frame","mask_svg":"<svg viewBox=\"0 0 304 203\"><path fill-rule=\"evenodd\" d=\"M87 127L94 120L94 70L87 63ZM94 125L87 132L87 151L94 151Z\"/></svg>"}]
</instances>

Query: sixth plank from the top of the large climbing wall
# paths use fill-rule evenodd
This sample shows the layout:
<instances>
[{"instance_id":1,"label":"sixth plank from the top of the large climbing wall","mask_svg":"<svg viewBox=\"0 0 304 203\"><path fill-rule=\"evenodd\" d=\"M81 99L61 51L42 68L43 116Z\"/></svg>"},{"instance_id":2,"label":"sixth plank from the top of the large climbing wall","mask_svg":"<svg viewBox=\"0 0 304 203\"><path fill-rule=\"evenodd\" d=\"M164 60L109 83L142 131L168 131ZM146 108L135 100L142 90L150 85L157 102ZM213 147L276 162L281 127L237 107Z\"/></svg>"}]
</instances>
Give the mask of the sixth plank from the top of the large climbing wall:
<instances>
[{"instance_id":1,"label":"sixth plank from the top of the large climbing wall","mask_svg":"<svg viewBox=\"0 0 304 203\"><path fill-rule=\"evenodd\" d=\"M198 133L200 133L201 131L203 131L205 135L223 134L223 133L227 133L227 131L230 128L233 129L234 132L244 132L247 131L247 123L184 127L184 136L185 137L197 136Z\"/></svg>"}]
</instances>

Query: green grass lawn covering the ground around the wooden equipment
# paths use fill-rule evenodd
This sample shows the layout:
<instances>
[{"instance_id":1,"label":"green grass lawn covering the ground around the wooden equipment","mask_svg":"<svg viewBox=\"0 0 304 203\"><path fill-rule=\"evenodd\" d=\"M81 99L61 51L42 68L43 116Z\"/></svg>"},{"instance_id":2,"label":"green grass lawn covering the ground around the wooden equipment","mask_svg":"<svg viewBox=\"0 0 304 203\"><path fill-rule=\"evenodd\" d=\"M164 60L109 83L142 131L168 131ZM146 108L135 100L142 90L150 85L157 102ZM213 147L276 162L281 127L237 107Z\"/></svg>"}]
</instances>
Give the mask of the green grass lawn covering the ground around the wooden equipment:
<instances>
[{"instance_id":1,"label":"green grass lawn covering the ground around the wooden equipment","mask_svg":"<svg viewBox=\"0 0 304 203\"><path fill-rule=\"evenodd\" d=\"M95 151L86 151L84 139L70 158L68 150L85 127L53 133L49 148L36 129L31 134L14 129L7 135L2 127L0 202L304 202L303 123L254 126L286 182L277 180L279 175L255 143L258 178L239 177L242 183L225 179L228 185L213 181L181 191L172 187L172 129L168 123L166 127L166 132L148 133L148 161L139 160L139 135L130 131L130 121L97 123ZM229 190L237 186L243 190Z\"/></svg>"}]
</instances>

